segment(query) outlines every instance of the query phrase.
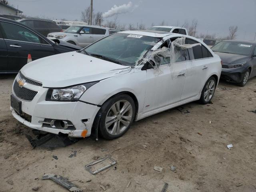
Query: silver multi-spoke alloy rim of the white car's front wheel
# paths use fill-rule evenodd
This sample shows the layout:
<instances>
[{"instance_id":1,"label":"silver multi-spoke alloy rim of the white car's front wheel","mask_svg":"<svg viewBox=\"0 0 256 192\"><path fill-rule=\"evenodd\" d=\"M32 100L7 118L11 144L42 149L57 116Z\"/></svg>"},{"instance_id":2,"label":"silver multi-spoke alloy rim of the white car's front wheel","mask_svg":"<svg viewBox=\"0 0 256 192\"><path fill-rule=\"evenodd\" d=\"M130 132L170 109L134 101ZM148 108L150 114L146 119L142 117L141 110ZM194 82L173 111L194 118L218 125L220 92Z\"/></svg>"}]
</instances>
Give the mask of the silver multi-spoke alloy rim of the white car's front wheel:
<instances>
[{"instance_id":1,"label":"silver multi-spoke alloy rim of the white car's front wheel","mask_svg":"<svg viewBox=\"0 0 256 192\"><path fill-rule=\"evenodd\" d=\"M109 134L118 135L128 128L132 120L132 105L127 100L120 100L108 110L105 127Z\"/></svg>"}]
</instances>

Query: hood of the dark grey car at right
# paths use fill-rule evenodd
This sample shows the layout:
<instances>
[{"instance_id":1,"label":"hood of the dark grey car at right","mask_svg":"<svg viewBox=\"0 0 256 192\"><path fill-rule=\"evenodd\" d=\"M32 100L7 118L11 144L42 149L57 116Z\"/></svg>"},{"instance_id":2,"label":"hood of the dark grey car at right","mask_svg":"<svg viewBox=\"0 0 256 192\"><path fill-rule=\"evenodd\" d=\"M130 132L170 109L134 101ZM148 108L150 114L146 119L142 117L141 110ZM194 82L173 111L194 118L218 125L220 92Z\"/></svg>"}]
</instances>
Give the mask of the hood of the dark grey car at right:
<instances>
[{"instance_id":1,"label":"hood of the dark grey car at right","mask_svg":"<svg viewBox=\"0 0 256 192\"><path fill-rule=\"evenodd\" d=\"M222 52L214 52L214 53L220 56L220 59L226 64L241 63L249 60L249 56L246 56L246 55L237 55L237 54L222 53Z\"/></svg>"}]
</instances>

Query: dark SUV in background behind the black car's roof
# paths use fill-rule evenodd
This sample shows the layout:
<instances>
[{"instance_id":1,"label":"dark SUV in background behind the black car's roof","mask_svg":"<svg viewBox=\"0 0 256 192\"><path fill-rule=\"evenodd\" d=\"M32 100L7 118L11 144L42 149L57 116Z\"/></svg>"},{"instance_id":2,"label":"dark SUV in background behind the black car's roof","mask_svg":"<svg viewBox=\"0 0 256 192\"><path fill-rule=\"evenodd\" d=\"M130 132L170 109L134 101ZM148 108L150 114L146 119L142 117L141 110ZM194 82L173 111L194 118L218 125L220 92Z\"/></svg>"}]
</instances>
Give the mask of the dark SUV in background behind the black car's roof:
<instances>
[{"instance_id":1,"label":"dark SUV in background behind the black car's roof","mask_svg":"<svg viewBox=\"0 0 256 192\"><path fill-rule=\"evenodd\" d=\"M50 20L42 19L20 19L17 20L26 26L36 30L43 36L47 37L48 33L52 32L62 32L62 29L55 23Z\"/></svg>"}]
</instances>

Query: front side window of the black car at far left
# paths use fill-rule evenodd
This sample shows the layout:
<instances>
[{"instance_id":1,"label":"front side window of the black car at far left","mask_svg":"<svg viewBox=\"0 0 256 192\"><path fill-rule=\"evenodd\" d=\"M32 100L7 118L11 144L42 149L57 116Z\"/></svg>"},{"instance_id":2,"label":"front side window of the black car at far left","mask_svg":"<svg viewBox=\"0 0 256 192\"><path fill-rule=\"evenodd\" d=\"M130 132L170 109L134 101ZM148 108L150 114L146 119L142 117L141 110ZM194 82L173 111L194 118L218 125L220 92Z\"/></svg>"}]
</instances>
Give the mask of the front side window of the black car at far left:
<instances>
[{"instance_id":1,"label":"front side window of the black car at far left","mask_svg":"<svg viewBox=\"0 0 256 192\"><path fill-rule=\"evenodd\" d=\"M32 43L41 43L40 38L32 31L12 23L2 22L2 28L7 39L25 41Z\"/></svg>"}]
</instances>

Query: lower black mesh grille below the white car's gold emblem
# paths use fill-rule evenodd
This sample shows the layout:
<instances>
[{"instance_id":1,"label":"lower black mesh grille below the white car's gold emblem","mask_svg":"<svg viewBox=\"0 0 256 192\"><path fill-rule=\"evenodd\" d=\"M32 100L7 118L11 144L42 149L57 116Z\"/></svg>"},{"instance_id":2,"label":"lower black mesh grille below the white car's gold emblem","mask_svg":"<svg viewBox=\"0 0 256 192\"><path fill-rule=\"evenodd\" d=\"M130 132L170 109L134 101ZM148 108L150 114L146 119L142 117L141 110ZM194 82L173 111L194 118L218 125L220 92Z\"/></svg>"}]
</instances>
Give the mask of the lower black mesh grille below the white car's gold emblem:
<instances>
[{"instance_id":1,"label":"lower black mesh grille below the white car's gold emblem","mask_svg":"<svg viewBox=\"0 0 256 192\"><path fill-rule=\"evenodd\" d=\"M25 87L20 87L16 80L13 84L13 92L17 98L20 98L24 101L32 101L37 94L37 91L30 90Z\"/></svg>"}]
</instances>

